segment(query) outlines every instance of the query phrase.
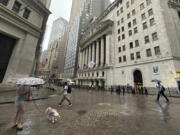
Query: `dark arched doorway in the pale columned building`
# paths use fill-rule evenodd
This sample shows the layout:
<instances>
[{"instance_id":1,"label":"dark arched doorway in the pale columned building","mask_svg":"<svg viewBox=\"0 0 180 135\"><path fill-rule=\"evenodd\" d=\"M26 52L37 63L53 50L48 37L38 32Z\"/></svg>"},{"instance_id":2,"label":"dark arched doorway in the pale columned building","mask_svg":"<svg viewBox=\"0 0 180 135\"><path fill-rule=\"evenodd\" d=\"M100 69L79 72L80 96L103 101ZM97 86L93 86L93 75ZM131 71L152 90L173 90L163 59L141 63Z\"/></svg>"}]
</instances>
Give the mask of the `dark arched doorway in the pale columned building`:
<instances>
[{"instance_id":1,"label":"dark arched doorway in the pale columned building","mask_svg":"<svg viewBox=\"0 0 180 135\"><path fill-rule=\"evenodd\" d=\"M143 87L142 73L139 70L134 71L134 88L136 92L139 92Z\"/></svg>"}]
</instances>

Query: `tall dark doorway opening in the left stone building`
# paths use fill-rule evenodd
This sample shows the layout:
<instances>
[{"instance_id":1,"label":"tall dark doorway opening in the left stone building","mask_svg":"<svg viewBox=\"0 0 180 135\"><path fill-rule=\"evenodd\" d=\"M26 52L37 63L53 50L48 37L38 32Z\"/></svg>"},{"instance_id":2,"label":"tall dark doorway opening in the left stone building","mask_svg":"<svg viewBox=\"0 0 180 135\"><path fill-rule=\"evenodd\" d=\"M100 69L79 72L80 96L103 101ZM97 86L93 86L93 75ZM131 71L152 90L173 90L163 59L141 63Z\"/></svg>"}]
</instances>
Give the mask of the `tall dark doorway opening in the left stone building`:
<instances>
[{"instance_id":1,"label":"tall dark doorway opening in the left stone building","mask_svg":"<svg viewBox=\"0 0 180 135\"><path fill-rule=\"evenodd\" d=\"M16 40L0 33L0 83L3 81Z\"/></svg>"}]
</instances>

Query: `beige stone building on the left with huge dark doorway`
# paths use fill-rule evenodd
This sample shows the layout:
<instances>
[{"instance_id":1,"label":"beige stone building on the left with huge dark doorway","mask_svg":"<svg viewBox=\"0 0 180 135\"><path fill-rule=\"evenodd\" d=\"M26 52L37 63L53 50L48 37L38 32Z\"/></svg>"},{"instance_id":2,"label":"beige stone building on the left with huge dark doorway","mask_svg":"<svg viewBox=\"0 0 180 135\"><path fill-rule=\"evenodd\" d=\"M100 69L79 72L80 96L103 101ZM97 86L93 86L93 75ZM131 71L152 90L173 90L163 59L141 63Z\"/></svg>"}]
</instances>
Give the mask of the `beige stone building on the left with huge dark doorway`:
<instances>
[{"instance_id":1,"label":"beige stone building on the left with huge dark doorway","mask_svg":"<svg viewBox=\"0 0 180 135\"><path fill-rule=\"evenodd\" d=\"M7 43L8 47L8 39L14 40L11 43L12 53L8 51L10 57L7 60L0 60L4 60L3 62L7 64L7 66L1 67L1 79L3 83L8 83L19 77L34 74L50 11L37 0L1 2L0 34L3 42L0 43L0 46Z\"/></svg>"}]
</instances>

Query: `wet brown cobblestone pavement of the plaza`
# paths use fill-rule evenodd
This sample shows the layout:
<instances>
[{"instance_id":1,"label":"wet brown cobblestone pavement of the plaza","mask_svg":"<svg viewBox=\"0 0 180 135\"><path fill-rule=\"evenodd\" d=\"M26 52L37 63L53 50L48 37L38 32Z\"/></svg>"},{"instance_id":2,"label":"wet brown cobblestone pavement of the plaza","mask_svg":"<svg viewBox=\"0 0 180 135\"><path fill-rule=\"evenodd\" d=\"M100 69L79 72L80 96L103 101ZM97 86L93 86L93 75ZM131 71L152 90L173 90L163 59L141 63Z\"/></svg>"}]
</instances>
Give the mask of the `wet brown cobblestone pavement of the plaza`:
<instances>
[{"instance_id":1,"label":"wet brown cobblestone pavement of the plaza","mask_svg":"<svg viewBox=\"0 0 180 135\"><path fill-rule=\"evenodd\" d=\"M180 135L180 100L170 104L155 96L73 90L73 106L58 107L60 96L28 102L24 130L12 129L15 105L0 105L0 135ZM61 119L52 124L44 111L56 108Z\"/></svg>"}]
</instances>

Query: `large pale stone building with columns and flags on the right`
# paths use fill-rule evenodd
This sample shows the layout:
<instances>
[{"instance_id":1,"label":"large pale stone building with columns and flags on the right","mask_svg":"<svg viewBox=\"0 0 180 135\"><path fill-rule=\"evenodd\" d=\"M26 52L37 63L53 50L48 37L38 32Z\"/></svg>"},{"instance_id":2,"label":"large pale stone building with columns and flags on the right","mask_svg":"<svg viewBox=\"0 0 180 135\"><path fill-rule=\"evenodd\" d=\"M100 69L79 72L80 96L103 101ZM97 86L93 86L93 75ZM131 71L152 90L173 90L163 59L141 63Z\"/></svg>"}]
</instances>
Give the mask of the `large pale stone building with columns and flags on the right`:
<instances>
[{"instance_id":1,"label":"large pale stone building with columns and flags on the right","mask_svg":"<svg viewBox=\"0 0 180 135\"><path fill-rule=\"evenodd\" d=\"M79 85L180 89L180 1L116 0L79 44Z\"/></svg>"}]
</instances>

